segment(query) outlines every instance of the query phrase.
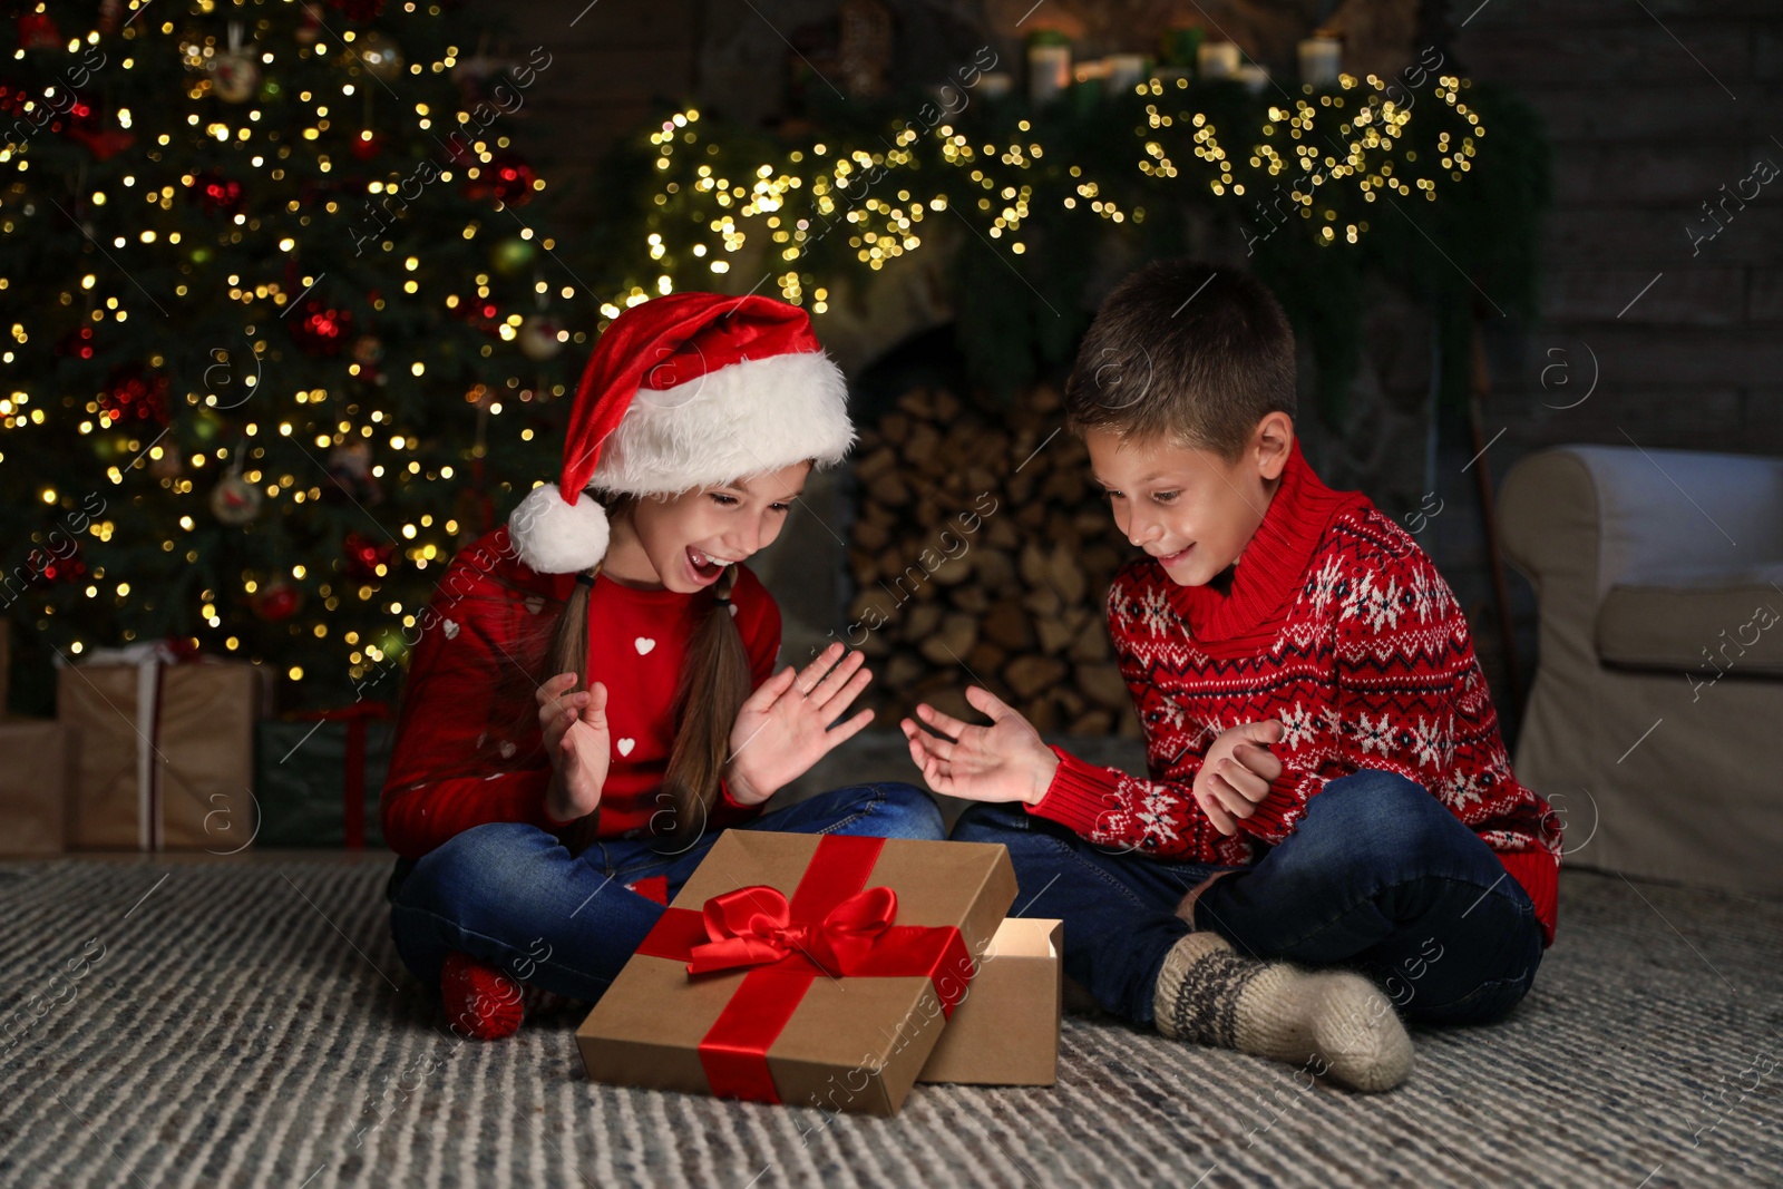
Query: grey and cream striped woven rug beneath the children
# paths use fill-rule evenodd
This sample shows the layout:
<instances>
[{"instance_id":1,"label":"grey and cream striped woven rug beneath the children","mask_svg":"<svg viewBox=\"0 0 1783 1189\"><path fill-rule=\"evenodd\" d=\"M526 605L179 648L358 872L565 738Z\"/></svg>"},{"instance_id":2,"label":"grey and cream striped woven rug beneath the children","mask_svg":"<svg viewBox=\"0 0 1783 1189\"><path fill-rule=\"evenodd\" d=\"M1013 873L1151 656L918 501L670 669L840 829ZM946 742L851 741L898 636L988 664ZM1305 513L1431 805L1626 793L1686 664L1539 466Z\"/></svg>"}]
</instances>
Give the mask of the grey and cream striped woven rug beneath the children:
<instances>
[{"instance_id":1,"label":"grey and cream striped woven rug beneath the children","mask_svg":"<svg viewBox=\"0 0 1783 1189\"><path fill-rule=\"evenodd\" d=\"M1384 1096L1070 1016L1057 1087L872 1119L594 1086L562 1000L458 1043L383 877L0 865L0 1185L1783 1184L1776 902L1569 872L1532 996Z\"/></svg>"}]
</instances>

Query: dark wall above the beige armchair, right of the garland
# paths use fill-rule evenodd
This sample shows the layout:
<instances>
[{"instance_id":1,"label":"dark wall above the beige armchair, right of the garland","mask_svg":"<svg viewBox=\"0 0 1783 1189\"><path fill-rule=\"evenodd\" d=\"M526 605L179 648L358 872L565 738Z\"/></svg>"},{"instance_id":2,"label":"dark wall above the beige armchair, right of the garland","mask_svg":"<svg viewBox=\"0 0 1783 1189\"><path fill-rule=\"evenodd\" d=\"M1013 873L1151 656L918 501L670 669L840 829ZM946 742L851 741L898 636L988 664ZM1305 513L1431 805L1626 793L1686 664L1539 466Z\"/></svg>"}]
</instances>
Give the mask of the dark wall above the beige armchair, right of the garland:
<instances>
[{"instance_id":1,"label":"dark wall above the beige armchair, right of the garland","mask_svg":"<svg viewBox=\"0 0 1783 1189\"><path fill-rule=\"evenodd\" d=\"M1496 467L1555 442L1783 453L1783 176L1730 198L1760 159L1783 168L1783 5L1491 0L1457 53L1517 87L1555 146L1544 317L1494 353ZM1731 217L1692 246L1721 201ZM1590 355L1592 398L1544 408L1583 387L1542 392L1541 367L1580 381Z\"/></svg>"}]
</instances>

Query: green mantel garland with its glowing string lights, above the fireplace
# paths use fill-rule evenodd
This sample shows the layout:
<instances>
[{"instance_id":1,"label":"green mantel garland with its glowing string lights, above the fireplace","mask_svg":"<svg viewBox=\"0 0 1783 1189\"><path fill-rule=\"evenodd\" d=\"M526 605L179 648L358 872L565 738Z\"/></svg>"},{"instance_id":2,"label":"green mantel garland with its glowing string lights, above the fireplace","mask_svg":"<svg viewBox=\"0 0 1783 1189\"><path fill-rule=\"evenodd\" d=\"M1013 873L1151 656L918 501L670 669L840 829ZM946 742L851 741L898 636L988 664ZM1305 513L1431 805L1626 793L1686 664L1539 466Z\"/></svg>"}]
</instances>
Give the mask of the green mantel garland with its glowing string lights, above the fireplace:
<instances>
[{"instance_id":1,"label":"green mantel garland with its glowing string lights, above the fireplace","mask_svg":"<svg viewBox=\"0 0 1783 1189\"><path fill-rule=\"evenodd\" d=\"M1152 78L1105 100L1079 87L1038 112L968 87L954 96L963 105L947 114L909 93L817 94L802 130L781 135L665 116L615 164L647 180L612 246L649 258L603 316L676 289L742 291L761 269L774 280L761 292L809 307L822 328L838 278L922 251L941 223L965 241L952 280L970 374L1007 394L1068 362L1098 258L1189 251L1200 216L1253 253L1312 348L1335 424L1368 273L1434 310L1446 399L1466 392L1473 319L1533 312L1548 148L1503 91L1346 75L1296 94ZM733 260L749 278L724 278Z\"/></svg>"}]
</instances>

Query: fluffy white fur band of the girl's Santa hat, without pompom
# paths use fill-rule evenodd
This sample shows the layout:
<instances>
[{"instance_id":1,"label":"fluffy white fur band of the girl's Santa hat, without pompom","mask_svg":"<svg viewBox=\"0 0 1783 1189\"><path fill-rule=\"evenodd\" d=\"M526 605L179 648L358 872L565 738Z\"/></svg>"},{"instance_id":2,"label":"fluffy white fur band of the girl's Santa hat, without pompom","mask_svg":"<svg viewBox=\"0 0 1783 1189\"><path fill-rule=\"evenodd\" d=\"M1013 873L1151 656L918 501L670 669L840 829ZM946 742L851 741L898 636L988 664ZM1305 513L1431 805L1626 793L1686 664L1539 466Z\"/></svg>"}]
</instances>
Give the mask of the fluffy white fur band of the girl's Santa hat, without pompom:
<instances>
[{"instance_id":1,"label":"fluffy white fur band of the girl's Santa hat, without pompom","mask_svg":"<svg viewBox=\"0 0 1783 1189\"><path fill-rule=\"evenodd\" d=\"M672 389L638 389L588 485L672 496L806 460L833 465L852 444L842 369L822 351L770 355Z\"/></svg>"}]
</instances>

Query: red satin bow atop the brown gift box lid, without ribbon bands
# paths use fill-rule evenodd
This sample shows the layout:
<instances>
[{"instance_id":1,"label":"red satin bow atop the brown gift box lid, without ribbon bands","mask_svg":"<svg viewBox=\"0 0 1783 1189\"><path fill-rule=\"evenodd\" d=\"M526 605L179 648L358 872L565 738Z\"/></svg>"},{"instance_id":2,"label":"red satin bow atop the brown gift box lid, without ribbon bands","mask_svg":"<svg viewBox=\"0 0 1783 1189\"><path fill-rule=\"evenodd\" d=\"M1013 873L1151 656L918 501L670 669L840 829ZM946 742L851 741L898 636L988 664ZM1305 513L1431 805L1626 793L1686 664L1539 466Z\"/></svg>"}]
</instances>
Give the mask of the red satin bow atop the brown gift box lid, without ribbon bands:
<instances>
[{"instance_id":1,"label":"red satin bow atop the brown gift box lid, without ribbon bands","mask_svg":"<svg viewBox=\"0 0 1783 1189\"><path fill-rule=\"evenodd\" d=\"M897 893L884 886L856 891L820 922L795 922L779 888L736 888L706 900L711 939L690 950L686 972L765 966L799 952L831 977L850 975L895 918Z\"/></svg>"}]
</instances>

